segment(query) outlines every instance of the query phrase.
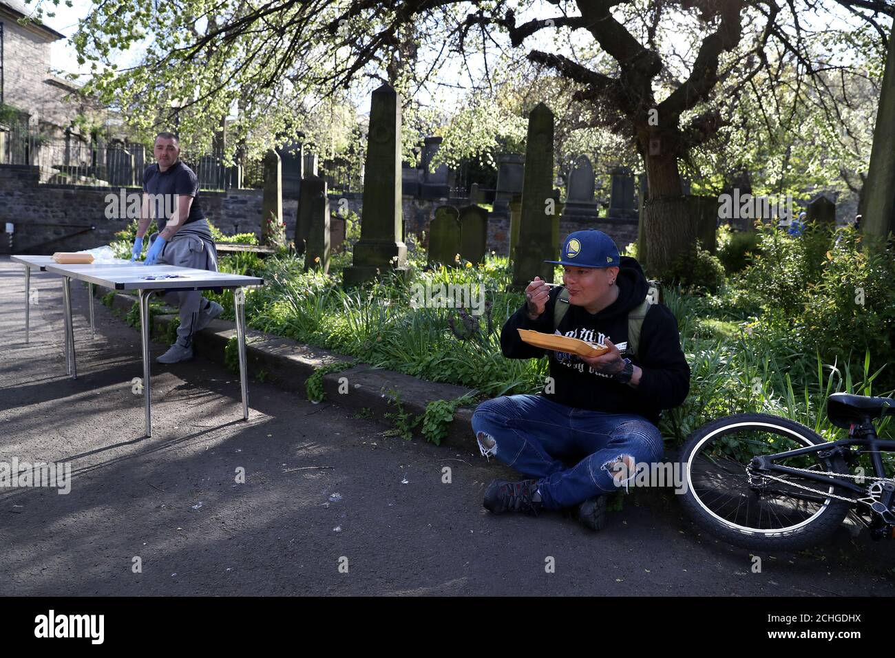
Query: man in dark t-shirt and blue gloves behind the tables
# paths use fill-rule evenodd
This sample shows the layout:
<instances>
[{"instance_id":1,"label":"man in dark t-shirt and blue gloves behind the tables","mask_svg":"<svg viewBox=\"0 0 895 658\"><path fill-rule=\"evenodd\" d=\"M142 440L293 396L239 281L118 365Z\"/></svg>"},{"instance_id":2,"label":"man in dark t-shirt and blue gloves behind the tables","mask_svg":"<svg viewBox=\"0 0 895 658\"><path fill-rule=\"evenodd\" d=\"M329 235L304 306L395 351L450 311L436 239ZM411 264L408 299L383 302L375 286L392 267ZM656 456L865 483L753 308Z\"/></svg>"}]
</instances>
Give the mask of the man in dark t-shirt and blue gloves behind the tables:
<instances>
[{"instance_id":1,"label":"man in dark t-shirt and blue gloves behind the tables","mask_svg":"<svg viewBox=\"0 0 895 658\"><path fill-rule=\"evenodd\" d=\"M149 236L145 265L217 271L217 250L199 199L199 178L180 161L180 143L172 132L159 132L153 148L156 164L143 173L143 200L132 261L143 249L143 235L153 218L161 230ZM164 226L163 226L164 225ZM177 340L158 363L192 359L192 335L205 329L223 310L198 290L177 293L180 327Z\"/></svg>"}]
</instances>

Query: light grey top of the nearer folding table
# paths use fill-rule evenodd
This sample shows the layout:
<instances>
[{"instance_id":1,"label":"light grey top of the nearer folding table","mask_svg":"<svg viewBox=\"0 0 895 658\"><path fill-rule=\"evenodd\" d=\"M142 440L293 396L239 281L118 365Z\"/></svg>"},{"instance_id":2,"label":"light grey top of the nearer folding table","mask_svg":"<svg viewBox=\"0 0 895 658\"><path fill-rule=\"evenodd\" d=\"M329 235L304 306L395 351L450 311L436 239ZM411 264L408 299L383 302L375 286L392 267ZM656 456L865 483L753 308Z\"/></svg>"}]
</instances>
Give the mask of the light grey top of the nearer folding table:
<instances>
[{"instance_id":1,"label":"light grey top of the nearer folding table","mask_svg":"<svg viewBox=\"0 0 895 658\"><path fill-rule=\"evenodd\" d=\"M147 266L141 262L131 261L125 261L124 264L91 263L90 265L60 265L51 262L44 267L54 274L115 290L207 290L218 287L264 285L264 279L259 277L211 272L207 269L175 268L172 265ZM176 275L176 278L149 278L160 275Z\"/></svg>"}]
</instances>

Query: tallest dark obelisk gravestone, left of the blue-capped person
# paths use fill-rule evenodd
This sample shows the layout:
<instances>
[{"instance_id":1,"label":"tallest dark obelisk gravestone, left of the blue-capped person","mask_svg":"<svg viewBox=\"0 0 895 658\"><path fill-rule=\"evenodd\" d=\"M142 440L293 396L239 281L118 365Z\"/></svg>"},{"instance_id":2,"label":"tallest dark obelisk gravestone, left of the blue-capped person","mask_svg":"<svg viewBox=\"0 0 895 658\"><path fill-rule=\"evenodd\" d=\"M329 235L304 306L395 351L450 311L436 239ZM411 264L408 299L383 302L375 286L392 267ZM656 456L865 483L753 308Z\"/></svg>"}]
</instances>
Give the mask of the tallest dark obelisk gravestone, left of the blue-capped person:
<instances>
[{"instance_id":1,"label":"tallest dark obelisk gravestone, left of the blue-capped person","mask_svg":"<svg viewBox=\"0 0 895 658\"><path fill-rule=\"evenodd\" d=\"M344 270L345 286L376 277L377 269L404 274L407 247L401 235L401 101L384 84L371 98L361 239L354 245L354 264Z\"/></svg>"}]
</instances>

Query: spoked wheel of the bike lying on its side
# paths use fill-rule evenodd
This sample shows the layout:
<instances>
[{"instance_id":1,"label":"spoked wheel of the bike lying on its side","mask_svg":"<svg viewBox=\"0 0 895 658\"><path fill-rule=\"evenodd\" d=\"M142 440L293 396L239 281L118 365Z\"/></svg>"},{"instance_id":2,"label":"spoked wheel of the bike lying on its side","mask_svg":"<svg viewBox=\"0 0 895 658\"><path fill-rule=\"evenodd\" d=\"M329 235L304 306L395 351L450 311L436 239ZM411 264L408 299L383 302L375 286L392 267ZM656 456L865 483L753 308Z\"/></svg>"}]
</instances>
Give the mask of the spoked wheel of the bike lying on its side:
<instances>
[{"instance_id":1,"label":"spoked wheel of the bike lying on its side","mask_svg":"<svg viewBox=\"0 0 895 658\"><path fill-rule=\"evenodd\" d=\"M681 451L684 508L710 533L744 548L797 551L822 543L851 507L829 494L848 498L850 492L805 475L762 471L750 462L823 443L804 425L769 414L737 414L705 424ZM841 457L816 452L774 464L848 474Z\"/></svg>"}]
</instances>

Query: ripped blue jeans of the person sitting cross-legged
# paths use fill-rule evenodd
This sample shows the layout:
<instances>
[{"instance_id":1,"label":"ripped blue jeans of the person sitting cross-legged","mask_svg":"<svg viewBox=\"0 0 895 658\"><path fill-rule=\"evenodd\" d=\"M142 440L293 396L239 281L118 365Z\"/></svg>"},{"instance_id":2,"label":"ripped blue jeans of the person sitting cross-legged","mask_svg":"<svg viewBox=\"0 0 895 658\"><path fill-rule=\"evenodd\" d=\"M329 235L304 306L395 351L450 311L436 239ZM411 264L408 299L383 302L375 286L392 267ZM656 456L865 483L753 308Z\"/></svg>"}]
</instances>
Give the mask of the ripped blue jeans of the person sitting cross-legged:
<instances>
[{"instance_id":1,"label":"ripped blue jeans of the person sitting cross-legged","mask_svg":"<svg viewBox=\"0 0 895 658\"><path fill-rule=\"evenodd\" d=\"M543 396L482 402L473 432L482 455L538 481L547 509L618 491L623 477L634 478L635 465L659 461L664 453L659 429L643 416L576 409Z\"/></svg>"}]
</instances>

